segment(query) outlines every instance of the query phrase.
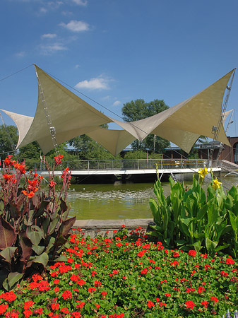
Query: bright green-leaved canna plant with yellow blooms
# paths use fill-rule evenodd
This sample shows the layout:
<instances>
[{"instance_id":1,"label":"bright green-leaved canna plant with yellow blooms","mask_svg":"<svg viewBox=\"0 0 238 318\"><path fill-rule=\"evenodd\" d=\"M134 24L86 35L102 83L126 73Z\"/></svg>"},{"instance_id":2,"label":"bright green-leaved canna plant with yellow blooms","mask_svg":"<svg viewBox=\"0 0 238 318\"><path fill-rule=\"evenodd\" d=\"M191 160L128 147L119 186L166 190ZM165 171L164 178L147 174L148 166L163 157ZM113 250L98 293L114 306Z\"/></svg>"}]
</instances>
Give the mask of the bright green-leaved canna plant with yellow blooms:
<instances>
[{"instance_id":1,"label":"bright green-leaved canna plant with yellow blooms","mask_svg":"<svg viewBox=\"0 0 238 318\"><path fill-rule=\"evenodd\" d=\"M204 191L205 167L194 175L193 184L186 189L184 183L169 179L170 194L165 198L159 179L155 182L150 209L155 225L152 235L159 237L167 247L202 251L210 255L226 249L237 257L238 249L238 190L232 187L225 194L217 178ZM212 174L213 177L213 174Z\"/></svg>"}]
</instances>

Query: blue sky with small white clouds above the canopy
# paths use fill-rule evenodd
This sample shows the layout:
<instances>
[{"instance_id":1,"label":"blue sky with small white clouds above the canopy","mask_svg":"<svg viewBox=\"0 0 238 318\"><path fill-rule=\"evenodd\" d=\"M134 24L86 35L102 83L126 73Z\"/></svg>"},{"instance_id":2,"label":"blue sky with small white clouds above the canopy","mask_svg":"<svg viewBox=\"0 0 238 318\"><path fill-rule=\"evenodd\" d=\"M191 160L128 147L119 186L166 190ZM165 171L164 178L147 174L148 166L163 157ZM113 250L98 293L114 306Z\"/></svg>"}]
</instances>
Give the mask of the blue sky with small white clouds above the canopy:
<instances>
[{"instance_id":1,"label":"blue sky with small white clouds above the canopy","mask_svg":"<svg viewBox=\"0 0 238 318\"><path fill-rule=\"evenodd\" d=\"M138 98L172 107L238 67L237 0L1 0L0 28L0 108L29 116L31 64L119 116ZM238 71L231 109L237 136Z\"/></svg>"}]
</instances>

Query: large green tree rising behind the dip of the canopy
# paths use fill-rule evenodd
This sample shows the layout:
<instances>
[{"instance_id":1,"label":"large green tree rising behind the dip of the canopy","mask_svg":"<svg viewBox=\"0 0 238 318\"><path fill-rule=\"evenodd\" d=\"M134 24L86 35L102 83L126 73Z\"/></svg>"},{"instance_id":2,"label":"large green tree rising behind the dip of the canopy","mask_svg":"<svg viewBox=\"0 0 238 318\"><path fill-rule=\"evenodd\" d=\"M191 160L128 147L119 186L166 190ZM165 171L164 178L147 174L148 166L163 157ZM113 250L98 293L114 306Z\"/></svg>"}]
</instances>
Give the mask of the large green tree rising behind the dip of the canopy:
<instances>
[{"instance_id":1,"label":"large green tree rising behind the dip of the canopy","mask_svg":"<svg viewBox=\"0 0 238 318\"><path fill-rule=\"evenodd\" d=\"M136 120L144 119L159 112L167 110L169 107L164 100L153 100L152 102L145 102L143 99L131 100L126 102L122 107L121 112L125 122L134 122ZM149 134L143 141L133 141L131 148L136 151L150 150L155 153L164 153L165 148L169 147L170 143L160 136Z\"/></svg>"}]
</instances>

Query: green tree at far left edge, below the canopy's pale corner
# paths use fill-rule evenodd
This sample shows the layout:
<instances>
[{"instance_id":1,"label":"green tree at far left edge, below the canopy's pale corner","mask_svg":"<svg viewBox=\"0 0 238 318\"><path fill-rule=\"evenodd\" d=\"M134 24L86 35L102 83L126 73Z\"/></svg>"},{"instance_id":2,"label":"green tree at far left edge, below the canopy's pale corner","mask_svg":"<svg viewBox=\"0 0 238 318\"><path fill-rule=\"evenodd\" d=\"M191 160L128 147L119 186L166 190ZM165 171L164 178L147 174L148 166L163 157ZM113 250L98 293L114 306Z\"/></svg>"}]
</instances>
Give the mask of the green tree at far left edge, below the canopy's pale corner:
<instances>
[{"instance_id":1,"label":"green tree at far left edge, below the canopy's pale corner","mask_svg":"<svg viewBox=\"0 0 238 318\"><path fill-rule=\"evenodd\" d=\"M3 124L0 126L0 153L1 157L12 155L18 143L18 129L16 126ZM4 158L5 159L5 158Z\"/></svg>"}]
</instances>

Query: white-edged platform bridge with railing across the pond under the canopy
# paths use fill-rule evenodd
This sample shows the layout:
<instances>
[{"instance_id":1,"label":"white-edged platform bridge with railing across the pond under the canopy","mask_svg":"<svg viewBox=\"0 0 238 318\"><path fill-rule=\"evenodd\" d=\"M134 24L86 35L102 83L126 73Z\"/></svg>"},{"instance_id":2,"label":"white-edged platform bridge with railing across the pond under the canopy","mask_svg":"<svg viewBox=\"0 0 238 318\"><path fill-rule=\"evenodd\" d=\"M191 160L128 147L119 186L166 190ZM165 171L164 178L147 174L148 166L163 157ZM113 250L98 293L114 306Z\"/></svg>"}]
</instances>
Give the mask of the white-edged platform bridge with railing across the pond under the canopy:
<instances>
[{"instance_id":1,"label":"white-edged platform bridge with railing across the pond under the canopy","mask_svg":"<svg viewBox=\"0 0 238 318\"><path fill-rule=\"evenodd\" d=\"M181 173L194 173L199 169L207 167L213 172L222 171L222 160L201 160L201 159L136 159L136 160L73 160L64 161L63 167L71 169L71 175L76 180L83 179L114 179L125 181L126 179L134 181L139 177L148 179L159 175L176 175ZM48 175L49 172L45 167L39 171L42 176ZM60 169L60 167L57 167ZM54 171L54 175L61 175L61 170Z\"/></svg>"}]
</instances>

